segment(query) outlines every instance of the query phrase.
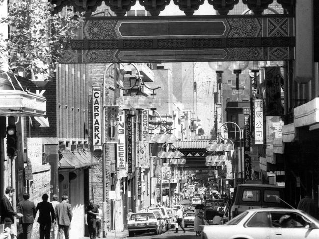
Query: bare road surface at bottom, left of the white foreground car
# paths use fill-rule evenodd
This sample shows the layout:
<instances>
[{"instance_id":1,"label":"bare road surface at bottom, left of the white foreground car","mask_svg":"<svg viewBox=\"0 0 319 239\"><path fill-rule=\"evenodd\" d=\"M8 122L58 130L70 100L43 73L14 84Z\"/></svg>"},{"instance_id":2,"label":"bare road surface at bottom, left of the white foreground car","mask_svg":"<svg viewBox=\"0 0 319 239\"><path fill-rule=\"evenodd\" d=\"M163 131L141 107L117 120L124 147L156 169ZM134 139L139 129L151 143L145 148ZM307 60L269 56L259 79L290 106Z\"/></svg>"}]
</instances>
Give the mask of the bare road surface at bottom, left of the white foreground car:
<instances>
[{"instance_id":1,"label":"bare road surface at bottom, left of the white foreground car","mask_svg":"<svg viewBox=\"0 0 319 239\"><path fill-rule=\"evenodd\" d=\"M134 236L134 239L173 239L173 238L183 238L183 239L195 239L199 238L195 236L195 232L193 231L193 227L185 228L186 233L183 233L181 228L179 229L178 234L174 233L175 229L169 229L169 231L161 234L161 235L154 235L154 233L144 233L137 236Z\"/></svg>"}]
</instances>

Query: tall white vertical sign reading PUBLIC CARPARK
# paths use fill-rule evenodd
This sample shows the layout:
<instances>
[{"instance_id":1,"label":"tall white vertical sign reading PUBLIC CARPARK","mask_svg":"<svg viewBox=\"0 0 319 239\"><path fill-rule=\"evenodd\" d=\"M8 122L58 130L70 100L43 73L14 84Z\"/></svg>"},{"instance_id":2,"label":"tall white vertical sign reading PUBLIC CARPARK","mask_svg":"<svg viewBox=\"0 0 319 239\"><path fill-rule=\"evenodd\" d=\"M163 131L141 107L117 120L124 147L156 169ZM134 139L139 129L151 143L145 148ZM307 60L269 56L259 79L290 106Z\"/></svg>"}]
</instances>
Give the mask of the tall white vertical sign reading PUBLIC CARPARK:
<instances>
[{"instance_id":1,"label":"tall white vertical sign reading PUBLIC CARPARK","mask_svg":"<svg viewBox=\"0 0 319 239\"><path fill-rule=\"evenodd\" d=\"M93 148L102 149L101 87L92 87Z\"/></svg>"}]
</instances>

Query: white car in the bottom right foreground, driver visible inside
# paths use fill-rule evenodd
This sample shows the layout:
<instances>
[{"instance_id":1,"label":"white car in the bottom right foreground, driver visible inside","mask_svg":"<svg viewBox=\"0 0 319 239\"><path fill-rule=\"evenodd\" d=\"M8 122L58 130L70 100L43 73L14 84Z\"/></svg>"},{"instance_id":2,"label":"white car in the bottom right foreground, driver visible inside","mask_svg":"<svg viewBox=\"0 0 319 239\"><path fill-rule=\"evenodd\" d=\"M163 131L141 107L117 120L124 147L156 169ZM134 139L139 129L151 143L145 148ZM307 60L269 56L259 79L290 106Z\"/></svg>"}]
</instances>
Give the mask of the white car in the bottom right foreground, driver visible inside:
<instances>
[{"instance_id":1,"label":"white car in the bottom right foreground, driver visible inside","mask_svg":"<svg viewBox=\"0 0 319 239\"><path fill-rule=\"evenodd\" d=\"M203 226L205 239L318 239L319 221L297 209L250 209L223 225Z\"/></svg>"}]
</instances>

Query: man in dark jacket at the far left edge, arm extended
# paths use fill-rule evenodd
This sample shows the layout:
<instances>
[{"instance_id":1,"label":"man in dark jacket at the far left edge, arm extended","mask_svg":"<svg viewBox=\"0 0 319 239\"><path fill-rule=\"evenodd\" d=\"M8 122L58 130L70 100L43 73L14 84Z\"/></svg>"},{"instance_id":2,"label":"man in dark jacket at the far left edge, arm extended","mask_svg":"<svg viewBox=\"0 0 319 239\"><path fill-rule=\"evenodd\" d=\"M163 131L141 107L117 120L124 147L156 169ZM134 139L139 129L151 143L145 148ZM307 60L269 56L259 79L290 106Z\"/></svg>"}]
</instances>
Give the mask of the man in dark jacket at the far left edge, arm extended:
<instances>
[{"instance_id":1,"label":"man in dark jacket at the far left edge, arm extended","mask_svg":"<svg viewBox=\"0 0 319 239\"><path fill-rule=\"evenodd\" d=\"M4 224L4 230L0 234L0 239L4 238L17 238L17 229L14 223L14 217L22 217L23 214L17 213L12 207L12 196L14 189L12 187L7 187L5 189L5 195L0 200L0 210L1 218L0 223Z\"/></svg>"}]
</instances>

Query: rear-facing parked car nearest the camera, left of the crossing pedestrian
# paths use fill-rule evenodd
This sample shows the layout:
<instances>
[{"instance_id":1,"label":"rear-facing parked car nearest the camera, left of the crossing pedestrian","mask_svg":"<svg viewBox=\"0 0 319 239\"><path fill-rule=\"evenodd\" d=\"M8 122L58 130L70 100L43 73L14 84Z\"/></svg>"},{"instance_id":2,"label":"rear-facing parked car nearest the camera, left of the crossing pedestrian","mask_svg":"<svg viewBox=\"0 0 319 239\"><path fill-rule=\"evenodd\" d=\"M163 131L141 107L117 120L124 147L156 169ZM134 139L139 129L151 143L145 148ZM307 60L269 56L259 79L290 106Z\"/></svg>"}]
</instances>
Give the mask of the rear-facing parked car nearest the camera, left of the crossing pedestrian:
<instances>
[{"instance_id":1,"label":"rear-facing parked car nearest the camera, left of the crossing pedestrian","mask_svg":"<svg viewBox=\"0 0 319 239\"><path fill-rule=\"evenodd\" d=\"M133 213L128 220L129 237L134 233L154 232L160 234L160 219L153 212Z\"/></svg>"}]
</instances>

